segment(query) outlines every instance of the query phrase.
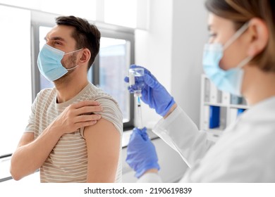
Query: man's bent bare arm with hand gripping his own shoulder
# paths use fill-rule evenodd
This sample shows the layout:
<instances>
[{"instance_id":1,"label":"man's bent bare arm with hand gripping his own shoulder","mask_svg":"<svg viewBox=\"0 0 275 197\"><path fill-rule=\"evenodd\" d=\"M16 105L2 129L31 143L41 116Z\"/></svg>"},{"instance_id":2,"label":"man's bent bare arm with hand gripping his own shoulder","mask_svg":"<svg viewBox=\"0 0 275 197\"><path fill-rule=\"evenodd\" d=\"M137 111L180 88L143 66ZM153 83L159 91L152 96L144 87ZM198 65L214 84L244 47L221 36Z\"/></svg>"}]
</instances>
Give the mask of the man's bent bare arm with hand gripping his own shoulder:
<instances>
[{"instance_id":1,"label":"man's bent bare arm with hand gripping his own shoulder","mask_svg":"<svg viewBox=\"0 0 275 197\"><path fill-rule=\"evenodd\" d=\"M25 132L11 158L11 174L19 180L35 172L47 159L63 134L97 123L102 111L97 101L80 101L68 106L59 117L44 129L37 139L33 132Z\"/></svg>"}]
</instances>

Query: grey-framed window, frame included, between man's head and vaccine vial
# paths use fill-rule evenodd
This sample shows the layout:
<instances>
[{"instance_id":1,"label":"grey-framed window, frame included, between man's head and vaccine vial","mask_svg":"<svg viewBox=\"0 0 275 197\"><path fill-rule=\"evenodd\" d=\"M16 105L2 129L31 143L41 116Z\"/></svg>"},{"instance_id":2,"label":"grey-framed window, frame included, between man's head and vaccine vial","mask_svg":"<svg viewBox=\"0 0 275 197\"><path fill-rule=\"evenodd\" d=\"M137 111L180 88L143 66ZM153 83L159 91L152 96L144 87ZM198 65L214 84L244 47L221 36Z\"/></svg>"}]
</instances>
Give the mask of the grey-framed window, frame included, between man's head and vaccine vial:
<instances>
[{"instance_id":1,"label":"grey-framed window, frame included, between man's head and vaccine vial","mask_svg":"<svg viewBox=\"0 0 275 197\"><path fill-rule=\"evenodd\" d=\"M134 62L133 32L119 32L100 28L100 51L93 65L93 83L111 94L123 113L123 127L133 127L133 95L127 90L124 77Z\"/></svg>"}]
</instances>

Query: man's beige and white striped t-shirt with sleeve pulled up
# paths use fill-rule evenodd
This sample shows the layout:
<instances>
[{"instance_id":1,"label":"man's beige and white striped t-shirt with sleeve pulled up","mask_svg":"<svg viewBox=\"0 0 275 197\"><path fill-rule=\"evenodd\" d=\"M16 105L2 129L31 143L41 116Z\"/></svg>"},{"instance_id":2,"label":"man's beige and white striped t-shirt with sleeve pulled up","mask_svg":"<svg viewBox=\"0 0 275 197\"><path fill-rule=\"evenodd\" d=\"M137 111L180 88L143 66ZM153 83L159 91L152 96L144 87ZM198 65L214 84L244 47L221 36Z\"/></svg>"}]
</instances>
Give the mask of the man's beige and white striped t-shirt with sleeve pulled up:
<instances>
[{"instance_id":1,"label":"man's beige and white striped t-shirt with sleeve pulled up","mask_svg":"<svg viewBox=\"0 0 275 197\"><path fill-rule=\"evenodd\" d=\"M43 89L32 103L32 113L25 132L34 132L35 139L41 134L63 110L79 101L98 101L103 108L102 118L112 122L121 134L123 119L118 103L109 94L104 93L93 84L88 84L71 100L56 103L56 88ZM121 146L120 146L121 147ZM121 149L121 148L120 148ZM121 182L121 150L118 159L115 182ZM87 147L83 128L70 134L63 134L47 160L40 167L41 182L86 182Z\"/></svg>"}]
</instances>

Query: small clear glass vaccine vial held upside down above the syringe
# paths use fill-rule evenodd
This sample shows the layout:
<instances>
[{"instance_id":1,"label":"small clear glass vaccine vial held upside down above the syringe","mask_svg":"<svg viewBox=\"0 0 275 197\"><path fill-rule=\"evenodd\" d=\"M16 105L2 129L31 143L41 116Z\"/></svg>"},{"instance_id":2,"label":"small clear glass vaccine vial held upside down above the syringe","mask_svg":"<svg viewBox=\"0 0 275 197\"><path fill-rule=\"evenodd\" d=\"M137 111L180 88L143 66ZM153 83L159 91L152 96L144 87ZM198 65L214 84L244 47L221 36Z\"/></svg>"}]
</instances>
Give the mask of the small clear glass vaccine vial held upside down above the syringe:
<instances>
[{"instance_id":1,"label":"small clear glass vaccine vial held upside down above the syringe","mask_svg":"<svg viewBox=\"0 0 275 197\"><path fill-rule=\"evenodd\" d=\"M143 68L130 68L129 69L129 85L135 85L134 96L141 96L141 90L144 85L143 82L144 69Z\"/></svg>"}]
</instances>

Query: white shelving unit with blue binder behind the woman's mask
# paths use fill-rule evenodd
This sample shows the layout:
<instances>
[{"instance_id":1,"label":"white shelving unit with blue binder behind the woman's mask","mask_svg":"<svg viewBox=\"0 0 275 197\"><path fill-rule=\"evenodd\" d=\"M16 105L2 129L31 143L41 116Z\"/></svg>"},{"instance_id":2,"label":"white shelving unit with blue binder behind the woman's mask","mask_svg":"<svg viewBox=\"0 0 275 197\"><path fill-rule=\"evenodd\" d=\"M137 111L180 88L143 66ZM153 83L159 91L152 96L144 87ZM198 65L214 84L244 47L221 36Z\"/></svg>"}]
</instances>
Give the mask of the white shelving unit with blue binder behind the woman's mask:
<instances>
[{"instance_id":1,"label":"white shelving unit with blue binder behind the woman's mask","mask_svg":"<svg viewBox=\"0 0 275 197\"><path fill-rule=\"evenodd\" d=\"M246 103L243 97L217 89L211 80L202 75L200 129L207 132L207 138L216 141L224 129L243 113L243 110L250 108ZM219 128L210 129L209 125L219 125Z\"/></svg>"}]
</instances>

